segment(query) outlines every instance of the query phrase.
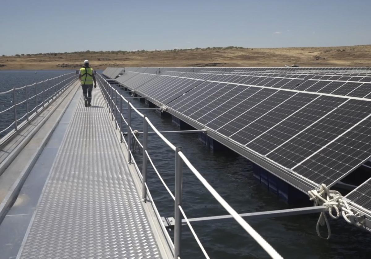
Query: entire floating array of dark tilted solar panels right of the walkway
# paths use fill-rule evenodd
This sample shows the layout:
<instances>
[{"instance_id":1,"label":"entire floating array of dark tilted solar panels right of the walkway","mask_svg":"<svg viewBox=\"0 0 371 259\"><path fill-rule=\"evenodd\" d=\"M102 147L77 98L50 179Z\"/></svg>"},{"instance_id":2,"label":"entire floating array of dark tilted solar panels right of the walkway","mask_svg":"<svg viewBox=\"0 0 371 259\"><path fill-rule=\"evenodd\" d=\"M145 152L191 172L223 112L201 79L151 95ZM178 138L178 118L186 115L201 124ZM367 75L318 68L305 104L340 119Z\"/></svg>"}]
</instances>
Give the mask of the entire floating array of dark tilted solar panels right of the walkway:
<instances>
[{"instance_id":1,"label":"entire floating array of dark tilted solar panels right of the walkway","mask_svg":"<svg viewBox=\"0 0 371 259\"><path fill-rule=\"evenodd\" d=\"M116 80L312 186L371 156L370 67L125 68Z\"/></svg>"}]
</instances>

